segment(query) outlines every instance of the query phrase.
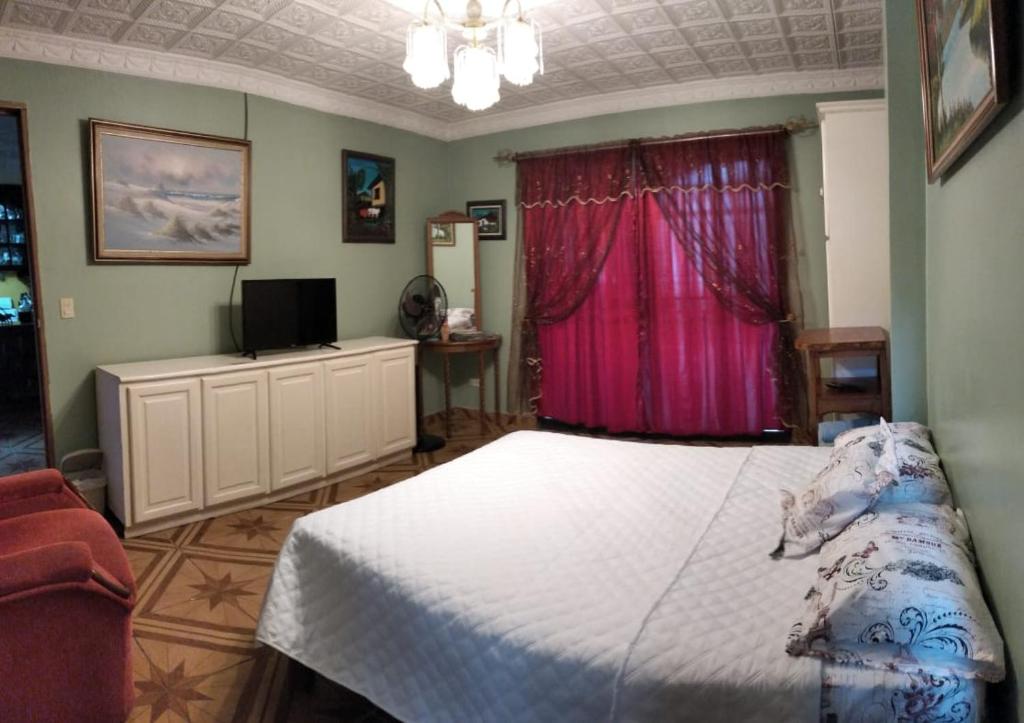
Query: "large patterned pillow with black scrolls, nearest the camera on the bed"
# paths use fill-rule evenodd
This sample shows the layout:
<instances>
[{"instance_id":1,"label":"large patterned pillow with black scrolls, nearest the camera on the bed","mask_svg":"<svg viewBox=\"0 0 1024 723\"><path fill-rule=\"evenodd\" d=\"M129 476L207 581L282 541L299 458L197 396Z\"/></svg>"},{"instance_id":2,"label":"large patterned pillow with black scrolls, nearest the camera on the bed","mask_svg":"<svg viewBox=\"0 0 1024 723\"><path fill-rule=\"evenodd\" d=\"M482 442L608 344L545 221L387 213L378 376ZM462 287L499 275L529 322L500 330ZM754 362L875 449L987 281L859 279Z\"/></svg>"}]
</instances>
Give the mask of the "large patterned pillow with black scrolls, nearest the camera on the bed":
<instances>
[{"instance_id":1,"label":"large patterned pillow with black scrolls, nearest the camera on the bed","mask_svg":"<svg viewBox=\"0 0 1024 723\"><path fill-rule=\"evenodd\" d=\"M1002 639L985 605L970 537L950 507L879 509L821 548L786 652L995 682Z\"/></svg>"}]
</instances>

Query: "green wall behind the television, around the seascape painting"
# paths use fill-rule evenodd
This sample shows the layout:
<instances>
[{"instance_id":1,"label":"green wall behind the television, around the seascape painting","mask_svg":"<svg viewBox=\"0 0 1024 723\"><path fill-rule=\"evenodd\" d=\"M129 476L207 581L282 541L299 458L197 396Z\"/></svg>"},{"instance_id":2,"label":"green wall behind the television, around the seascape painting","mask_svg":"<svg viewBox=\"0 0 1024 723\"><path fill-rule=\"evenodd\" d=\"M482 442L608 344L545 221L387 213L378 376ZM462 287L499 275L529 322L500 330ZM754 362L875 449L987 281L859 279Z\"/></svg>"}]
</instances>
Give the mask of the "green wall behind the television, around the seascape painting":
<instances>
[{"instance_id":1,"label":"green wall behind the television, around the seascape painting","mask_svg":"<svg viewBox=\"0 0 1024 723\"><path fill-rule=\"evenodd\" d=\"M241 93L0 60L0 97L29 107L56 453L96 443L92 370L232 349L230 266L99 265L91 258L90 117L241 137ZM423 219L445 204L445 144L250 97L253 263L240 279L333 275L342 338L396 334L402 285L425 264ZM341 243L341 148L397 162L394 245ZM77 316L58 317L59 297Z\"/></svg>"}]
</instances>

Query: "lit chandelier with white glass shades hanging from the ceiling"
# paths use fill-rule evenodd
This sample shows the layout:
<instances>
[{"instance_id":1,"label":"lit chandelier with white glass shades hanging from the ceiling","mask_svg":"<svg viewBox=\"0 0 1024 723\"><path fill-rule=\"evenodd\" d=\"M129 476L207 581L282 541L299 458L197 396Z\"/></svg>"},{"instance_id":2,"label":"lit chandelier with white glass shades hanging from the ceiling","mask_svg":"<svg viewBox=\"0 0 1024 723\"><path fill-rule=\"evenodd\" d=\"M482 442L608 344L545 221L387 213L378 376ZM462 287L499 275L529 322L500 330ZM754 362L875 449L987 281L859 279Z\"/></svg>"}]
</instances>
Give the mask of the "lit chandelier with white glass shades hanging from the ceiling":
<instances>
[{"instance_id":1,"label":"lit chandelier with white glass shades hanging from the ceiling","mask_svg":"<svg viewBox=\"0 0 1024 723\"><path fill-rule=\"evenodd\" d=\"M436 8L433 16L432 8ZM510 8L514 12L509 12ZM501 11L489 16L484 15L480 0L469 0L461 19L445 13L439 0L426 0L423 18L409 26L402 63L416 87L436 88L452 77L449 31L466 40L455 50L452 98L470 111L483 111L501 99L502 76L522 86L532 83L538 73L544 74L541 30L523 13L522 0L505 0ZM495 47L483 44L492 32Z\"/></svg>"}]
</instances>

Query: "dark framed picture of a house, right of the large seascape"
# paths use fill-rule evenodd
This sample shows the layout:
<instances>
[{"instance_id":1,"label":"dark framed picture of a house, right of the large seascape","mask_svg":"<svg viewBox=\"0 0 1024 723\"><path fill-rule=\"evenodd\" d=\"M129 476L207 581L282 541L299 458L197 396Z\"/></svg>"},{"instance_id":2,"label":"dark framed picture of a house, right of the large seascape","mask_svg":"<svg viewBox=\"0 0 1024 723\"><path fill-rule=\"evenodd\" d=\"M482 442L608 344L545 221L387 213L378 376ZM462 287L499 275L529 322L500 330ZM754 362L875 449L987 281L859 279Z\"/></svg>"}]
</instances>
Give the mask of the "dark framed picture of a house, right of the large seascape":
<instances>
[{"instance_id":1,"label":"dark framed picture of a house, right of the large seascape","mask_svg":"<svg viewBox=\"0 0 1024 723\"><path fill-rule=\"evenodd\" d=\"M393 244L394 159L342 151L341 174L344 184L342 241Z\"/></svg>"}]
</instances>

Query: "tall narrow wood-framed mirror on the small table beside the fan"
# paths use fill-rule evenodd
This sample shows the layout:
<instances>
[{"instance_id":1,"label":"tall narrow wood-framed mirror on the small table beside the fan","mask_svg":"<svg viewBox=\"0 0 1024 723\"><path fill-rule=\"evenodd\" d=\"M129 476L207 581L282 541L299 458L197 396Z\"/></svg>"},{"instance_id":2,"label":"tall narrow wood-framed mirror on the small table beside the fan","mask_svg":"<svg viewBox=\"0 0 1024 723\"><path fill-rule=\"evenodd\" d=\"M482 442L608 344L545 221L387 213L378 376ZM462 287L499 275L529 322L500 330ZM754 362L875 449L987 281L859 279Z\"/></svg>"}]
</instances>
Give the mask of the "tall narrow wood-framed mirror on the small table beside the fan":
<instances>
[{"instance_id":1,"label":"tall narrow wood-framed mirror on the small table beside the fan","mask_svg":"<svg viewBox=\"0 0 1024 723\"><path fill-rule=\"evenodd\" d=\"M440 282L449 308L471 308L476 328L483 329L480 313L480 264L476 223L458 211L427 219L427 273Z\"/></svg>"}]
</instances>

